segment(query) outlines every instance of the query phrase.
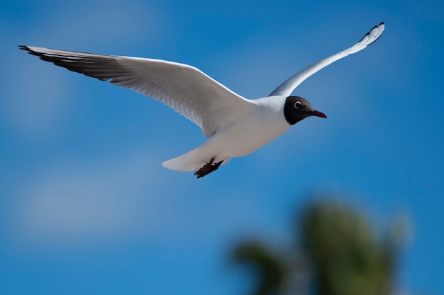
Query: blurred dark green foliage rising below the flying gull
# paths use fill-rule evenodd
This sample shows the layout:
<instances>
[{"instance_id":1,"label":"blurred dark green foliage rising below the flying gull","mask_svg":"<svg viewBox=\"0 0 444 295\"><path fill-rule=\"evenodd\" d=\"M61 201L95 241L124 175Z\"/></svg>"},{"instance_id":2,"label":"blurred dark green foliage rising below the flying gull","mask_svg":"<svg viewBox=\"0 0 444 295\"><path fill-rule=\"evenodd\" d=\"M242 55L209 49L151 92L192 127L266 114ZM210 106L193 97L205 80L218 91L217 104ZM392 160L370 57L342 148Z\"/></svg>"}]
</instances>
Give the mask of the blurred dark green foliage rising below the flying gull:
<instances>
[{"instance_id":1,"label":"blurred dark green foliage rising below the flying gull","mask_svg":"<svg viewBox=\"0 0 444 295\"><path fill-rule=\"evenodd\" d=\"M233 250L235 262L255 275L252 295L393 293L398 231L377 236L362 213L337 202L309 204L296 216L297 246L279 247L292 250L257 241Z\"/></svg>"}]
</instances>

